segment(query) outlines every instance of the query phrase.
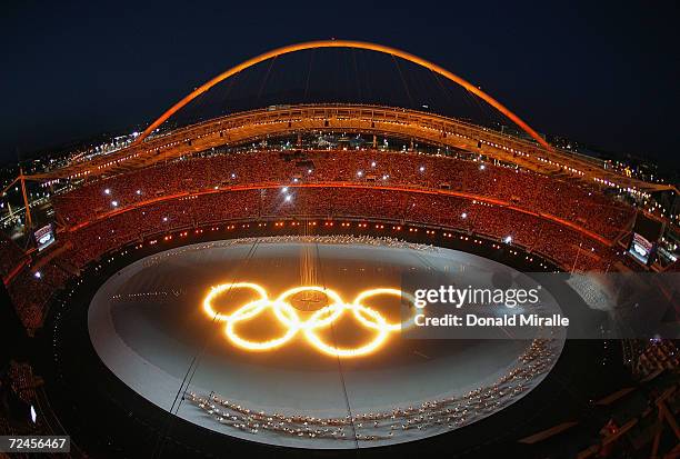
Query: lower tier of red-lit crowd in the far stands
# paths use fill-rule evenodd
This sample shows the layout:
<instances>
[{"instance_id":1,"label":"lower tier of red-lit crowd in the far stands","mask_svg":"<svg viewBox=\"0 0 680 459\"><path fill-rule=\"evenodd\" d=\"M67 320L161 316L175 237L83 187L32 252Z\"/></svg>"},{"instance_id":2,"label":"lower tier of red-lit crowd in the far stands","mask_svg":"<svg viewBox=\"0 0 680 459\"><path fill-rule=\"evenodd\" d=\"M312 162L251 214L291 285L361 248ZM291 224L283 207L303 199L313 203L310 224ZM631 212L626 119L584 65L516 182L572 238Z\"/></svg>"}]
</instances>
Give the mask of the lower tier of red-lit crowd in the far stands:
<instances>
[{"instance_id":1,"label":"lower tier of red-lit crowd in the far stands","mask_svg":"<svg viewBox=\"0 0 680 459\"><path fill-rule=\"evenodd\" d=\"M298 188L240 190L171 201L119 212L108 219L60 235L72 240L68 262L82 267L117 247L152 235L232 220L366 218L417 222L458 229L498 241L508 237L528 251L562 266L606 269L610 249L577 230L541 217L453 196L366 188Z\"/></svg>"}]
</instances>

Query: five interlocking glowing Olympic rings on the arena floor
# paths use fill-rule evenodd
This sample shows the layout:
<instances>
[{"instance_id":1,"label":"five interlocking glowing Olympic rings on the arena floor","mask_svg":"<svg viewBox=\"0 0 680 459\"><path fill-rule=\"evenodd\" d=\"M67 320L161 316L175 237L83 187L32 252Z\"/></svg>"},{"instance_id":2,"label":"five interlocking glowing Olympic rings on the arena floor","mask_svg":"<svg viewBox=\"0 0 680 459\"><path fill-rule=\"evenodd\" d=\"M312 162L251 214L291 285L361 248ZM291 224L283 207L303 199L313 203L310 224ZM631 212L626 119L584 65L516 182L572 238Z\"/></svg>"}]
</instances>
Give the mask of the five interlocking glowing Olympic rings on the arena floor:
<instances>
[{"instance_id":1,"label":"five interlocking glowing Olympic rings on the arena floor","mask_svg":"<svg viewBox=\"0 0 680 459\"><path fill-rule=\"evenodd\" d=\"M217 312L212 306L212 301L219 295L231 289L249 289L253 290L259 295L259 299L250 301L230 315ZM307 320L301 320L298 311L293 308L289 301L290 297L298 295L303 291L314 291L324 295L330 301L329 305L316 310ZM213 320L220 322L227 322L224 332L229 340L239 348L251 350L251 351L268 351L274 348L281 347L290 341L299 331L302 331L304 338L319 351L332 356L332 357L358 357L366 356L378 349L388 336L393 331L402 329L402 323L388 323L382 315L364 305L362 301L367 298L374 296L388 295L394 297L404 297L411 302L413 309L413 317L411 317L404 327L411 327L413 325L413 318L416 310L413 308L414 298L413 296L402 292L398 289L380 288L366 290L359 293L352 303L346 303L340 295L334 290L327 289L318 286L301 286L289 289L281 293L276 300L270 300L267 291L257 283L251 282L233 282L222 283L213 286L206 298L203 299L203 311ZM286 332L279 337L267 341L251 341L242 338L236 331L236 326L240 322L253 319L267 309L271 308L272 312L277 317L277 320L284 327ZM338 320L344 311L351 311L354 318L366 328L369 328L376 332L373 339L367 345L359 346L356 348L339 348L324 342L317 330L331 326Z\"/></svg>"}]
</instances>

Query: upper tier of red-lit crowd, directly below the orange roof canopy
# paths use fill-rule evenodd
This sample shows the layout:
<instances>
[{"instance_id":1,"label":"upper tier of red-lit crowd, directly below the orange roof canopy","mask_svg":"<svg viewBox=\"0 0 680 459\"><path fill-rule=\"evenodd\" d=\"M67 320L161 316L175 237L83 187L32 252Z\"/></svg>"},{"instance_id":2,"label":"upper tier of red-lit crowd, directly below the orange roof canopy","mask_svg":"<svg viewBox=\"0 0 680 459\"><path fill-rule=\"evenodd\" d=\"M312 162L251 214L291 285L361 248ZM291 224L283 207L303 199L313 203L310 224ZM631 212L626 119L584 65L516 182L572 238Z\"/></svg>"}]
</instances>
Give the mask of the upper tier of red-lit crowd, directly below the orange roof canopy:
<instances>
[{"instance_id":1,"label":"upper tier of red-lit crowd, directly below the orange roof canopy","mask_svg":"<svg viewBox=\"0 0 680 459\"><path fill-rule=\"evenodd\" d=\"M449 189L547 213L616 238L633 211L599 191L516 168L378 150L249 151L177 160L91 182L54 198L67 224L151 199L230 186L352 182Z\"/></svg>"}]
</instances>

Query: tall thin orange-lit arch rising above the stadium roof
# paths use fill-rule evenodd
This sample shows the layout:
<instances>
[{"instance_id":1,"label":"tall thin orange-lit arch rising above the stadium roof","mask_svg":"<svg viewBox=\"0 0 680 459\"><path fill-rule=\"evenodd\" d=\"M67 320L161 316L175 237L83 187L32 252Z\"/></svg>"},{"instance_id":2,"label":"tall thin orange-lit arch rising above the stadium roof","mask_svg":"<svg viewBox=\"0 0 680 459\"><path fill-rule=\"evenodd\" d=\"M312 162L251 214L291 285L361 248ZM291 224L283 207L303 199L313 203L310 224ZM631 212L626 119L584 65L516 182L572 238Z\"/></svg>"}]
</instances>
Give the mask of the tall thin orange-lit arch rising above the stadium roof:
<instances>
[{"instance_id":1,"label":"tall thin orange-lit arch rising above the stadium roof","mask_svg":"<svg viewBox=\"0 0 680 459\"><path fill-rule=\"evenodd\" d=\"M320 48L352 48L352 49L363 49L363 50L369 50L369 51L376 51L376 52L380 52L383 54L390 54L390 56L394 56L398 58L401 58L403 60L407 60L409 62L412 62L417 66L423 67L428 70L433 71L434 73L438 73L440 76L442 76L443 78L459 84L460 87L464 88L466 90L468 90L469 92L473 93L474 96L479 97L480 99L484 100L487 103L489 103L491 107L493 107L494 109L497 109L499 112L501 112L502 114L504 114L508 119L510 119L512 122L514 122L517 126L519 126L524 132L527 132L533 140L536 140L539 144L541 144L543 148L546 149L550 149L550 146L548 144L548 142L546 142L546 140L543 140L542 137L540 137L529 124L527 124L522 119L520 119L517 114L514 114L512 111L510 111L510 109L508 109L506 106L503 106L502 103L500 103L498 100L496 100L494 98L492 98L491 96L489 96L487 92L482 91L480 88L476 87L474 84L470 83L469 81L464 80L463 78L448 71L447 69L430 62L426 59L419 58L418 56L411 54L409 52L406 51L401 51L399 49L396 48L391 48L391 47L386 47L382 44L376 44L376 43L369 43L369 42L364 42L364 41L353 41L353 40L320 40L320 41L308 41L304 43L298 43L298 44L290 44L287 47L282 47L282 48L277 48L274 50L264 52L260 56L256 56L254 58L248 59L247 61L243 61L241 63L239 63L236 67L232 67L231 69L218 74L217 77L214 77L213 79L207 81L206 83L201 84L200 87L198 87L197 89L194 89L193 91L191 91L189 94L187 94L183 99L181 99L179 102L177 102L174 106L172 106L170 109L168 109L163 114L161 114L156 121L153 121L151 124L149 124L149 127L136 139L136 142L139 143L141 141L143 141L149 134L151 134L157 128L159 128L163 122L166 122L166 120L168 120L170 117L172 117L174 113L177 113L179 110L181 110L183 107L186 107L189 102L191 102L193 99L196 99L197 97L201 96L202 93L207 92L208 90L210 90L210 88L214 87L216 84L220 83L221 81L250 68L253 67L260 62L263 62L266 60L269 59L273 59L278 56L282 56L282 54L289 54L292 52L298 52L298 51L303 51L303 50L310 50L310 49L320 49Z\"/></svg>"}]
</instances>

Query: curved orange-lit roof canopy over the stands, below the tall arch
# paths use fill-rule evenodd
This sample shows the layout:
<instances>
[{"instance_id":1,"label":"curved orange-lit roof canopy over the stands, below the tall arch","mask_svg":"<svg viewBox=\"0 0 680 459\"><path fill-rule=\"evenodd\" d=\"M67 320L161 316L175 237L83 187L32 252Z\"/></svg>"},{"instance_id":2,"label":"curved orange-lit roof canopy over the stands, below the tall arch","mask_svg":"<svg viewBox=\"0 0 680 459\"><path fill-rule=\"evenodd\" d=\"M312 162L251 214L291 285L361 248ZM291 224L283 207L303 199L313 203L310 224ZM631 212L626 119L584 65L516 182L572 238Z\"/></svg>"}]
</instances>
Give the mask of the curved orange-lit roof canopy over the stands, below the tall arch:
<instances>
[{"instance_id":1,"label":"curved orange-lit roof canopy over the stands, below the tall arch","mask_svg":"<svg viewBox=\"0 0 680 459\"><path fill-rule=\"evenodd\" d=\"M566 174L591 186L638 192L671 189L668 184L649 183L604 169L602 162L593 158L546 148L453 118L403 108L341 103L273 106L228 114L157 133L111 154L27 178L44 181L110 176L210 148L306 132L402 137L443 148L464 149L539 173Z\"/></svg>"}]
</instances>

